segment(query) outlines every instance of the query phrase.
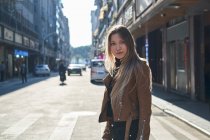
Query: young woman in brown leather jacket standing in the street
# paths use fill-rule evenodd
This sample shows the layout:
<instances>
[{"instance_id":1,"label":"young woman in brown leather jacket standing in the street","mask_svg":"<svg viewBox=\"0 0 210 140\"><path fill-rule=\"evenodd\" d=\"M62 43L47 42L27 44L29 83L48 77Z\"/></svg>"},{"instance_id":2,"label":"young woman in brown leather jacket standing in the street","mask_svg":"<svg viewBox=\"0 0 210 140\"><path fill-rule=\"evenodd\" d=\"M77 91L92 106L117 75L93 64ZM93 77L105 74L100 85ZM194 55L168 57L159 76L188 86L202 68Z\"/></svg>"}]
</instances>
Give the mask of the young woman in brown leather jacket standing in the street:
<instances>
[{"instance_id":1,"label":"young woman in brown leather jacket standing in the street","mask_svg":"<svg viewBox=\"0 0 210 140\"><path fill-rule=\"evenodd\" d=\"M103 140L149 140L151 71L123 25L107 37L105 92L99 122L107 122Z\"/></svg>"}]
</instances>

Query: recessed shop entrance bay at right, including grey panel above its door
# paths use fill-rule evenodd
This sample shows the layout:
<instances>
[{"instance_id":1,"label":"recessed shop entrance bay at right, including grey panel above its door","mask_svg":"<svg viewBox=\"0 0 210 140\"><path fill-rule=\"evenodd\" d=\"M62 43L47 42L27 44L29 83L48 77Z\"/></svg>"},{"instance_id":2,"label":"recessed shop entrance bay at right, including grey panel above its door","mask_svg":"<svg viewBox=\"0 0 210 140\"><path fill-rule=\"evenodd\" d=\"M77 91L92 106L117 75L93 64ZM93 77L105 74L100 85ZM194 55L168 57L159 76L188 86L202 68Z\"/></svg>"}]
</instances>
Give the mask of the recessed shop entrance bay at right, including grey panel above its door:
<instances>
[{"instance_id":1,"label":"recessed shop entrance bay at right, including grey panel above its door","mask_svg":"<svg viewBox=\"0 0 210 140\"><path fill-rule=\"evenodd\" d=\"M167 28L166 57L168 89L190 96L188 21Z\"/></svg>"}]
</instances>

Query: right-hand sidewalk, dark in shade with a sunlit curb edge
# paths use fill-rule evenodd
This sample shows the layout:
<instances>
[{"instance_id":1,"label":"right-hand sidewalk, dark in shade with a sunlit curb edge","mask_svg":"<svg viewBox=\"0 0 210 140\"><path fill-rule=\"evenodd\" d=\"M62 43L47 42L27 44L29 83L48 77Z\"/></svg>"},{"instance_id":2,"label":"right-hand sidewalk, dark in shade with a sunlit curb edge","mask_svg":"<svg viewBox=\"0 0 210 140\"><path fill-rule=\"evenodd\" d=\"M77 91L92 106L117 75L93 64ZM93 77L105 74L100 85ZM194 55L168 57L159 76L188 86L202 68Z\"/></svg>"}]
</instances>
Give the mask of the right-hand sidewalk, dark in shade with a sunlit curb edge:
<instances>
[{"instance_id":1,"label":"right-hand sidewalk, dark in shade with a sunlit curb edge","mask_svg":"<svg viewBox=\"0 0 210 140\"><path fill-rule=\"evenodd\" d=\"M210 137L210 108L208 103L192 101L176 93L165 92L154 85L152 103L169 115L172 115Z\"/></svg>"}]
</instances>

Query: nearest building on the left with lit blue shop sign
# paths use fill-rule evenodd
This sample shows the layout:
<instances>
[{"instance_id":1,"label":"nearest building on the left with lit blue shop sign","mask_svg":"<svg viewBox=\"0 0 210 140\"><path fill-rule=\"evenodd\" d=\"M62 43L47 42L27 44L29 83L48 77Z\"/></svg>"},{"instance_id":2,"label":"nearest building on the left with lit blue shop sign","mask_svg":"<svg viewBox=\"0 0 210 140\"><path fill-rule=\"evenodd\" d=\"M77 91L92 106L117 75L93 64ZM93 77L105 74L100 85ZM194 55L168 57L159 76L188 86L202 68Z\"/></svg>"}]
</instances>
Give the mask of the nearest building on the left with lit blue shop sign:
<instances>
[{"instance_id":1,"label":"nearest building on the left with lit blue shop sign","mask_svg":"<svg viewBox=\"0 0 210 140\"><path fill-rule=\"evenodd\" d=\"M0 14L0 60L6 66L4 78L7 79L19 75L21 63L32 71L34 59L39 54L34 2L3 1Z\"/></svg>"}]
</instances>

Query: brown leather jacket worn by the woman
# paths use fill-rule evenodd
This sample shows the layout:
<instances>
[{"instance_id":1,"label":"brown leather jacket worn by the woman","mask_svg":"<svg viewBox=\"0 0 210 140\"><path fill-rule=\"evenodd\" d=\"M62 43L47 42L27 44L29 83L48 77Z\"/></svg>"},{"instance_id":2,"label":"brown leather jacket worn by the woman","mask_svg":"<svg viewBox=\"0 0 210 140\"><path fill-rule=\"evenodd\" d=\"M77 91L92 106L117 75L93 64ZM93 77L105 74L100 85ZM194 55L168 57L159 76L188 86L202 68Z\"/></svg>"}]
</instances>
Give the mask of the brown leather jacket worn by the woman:
<instances>
[{"instance_id":1,"label":"brown leather jacket worn by the woman","mask_svg":"<svg viewBox=\"0 0 210 140\"><path fill-rule=\"evenodd\" d=\"M140 65L140 64L139 64ZM131 121L139 119L139 130L137 140L149 140L150 135L150 117L151 117L151 71L146 62L142 61L140 65L142 69L137 67L132 75L131 80L124 89L122 100L112 99L113 118L107 116L108 85L111 81L111 75L107 75L104 79L106 86L104 98L102 102L99 122L107 121L103 135L103 140L111 140L110 123L111 121L126 121L125 140L128 140ZM143 70L143 74L141 74ZM126 79L125 79L126 80ZM112 93L113 94L113 93Z\"/></svg>"}]
</instances>

